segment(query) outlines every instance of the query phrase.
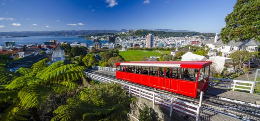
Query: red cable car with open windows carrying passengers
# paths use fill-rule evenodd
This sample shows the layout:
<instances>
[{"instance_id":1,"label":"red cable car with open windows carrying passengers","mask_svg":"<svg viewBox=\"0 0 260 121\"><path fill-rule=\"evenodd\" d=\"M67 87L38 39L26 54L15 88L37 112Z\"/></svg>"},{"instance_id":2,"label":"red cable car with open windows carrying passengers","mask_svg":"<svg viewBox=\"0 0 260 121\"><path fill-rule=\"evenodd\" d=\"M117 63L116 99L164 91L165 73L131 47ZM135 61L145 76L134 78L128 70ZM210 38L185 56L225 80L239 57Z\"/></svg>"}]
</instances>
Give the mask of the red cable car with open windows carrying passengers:
<instances>
[{"instance_id":1,"label":"red cable car with open windows carrying passengers","mask_svg":"<svg viewBox=\"0 0 260 121\"><path fill-rule=\"evenodd\" d=\"M196 98L208 89L211 61L116 63L116 78Z\"/></svg>"}]
</instances>

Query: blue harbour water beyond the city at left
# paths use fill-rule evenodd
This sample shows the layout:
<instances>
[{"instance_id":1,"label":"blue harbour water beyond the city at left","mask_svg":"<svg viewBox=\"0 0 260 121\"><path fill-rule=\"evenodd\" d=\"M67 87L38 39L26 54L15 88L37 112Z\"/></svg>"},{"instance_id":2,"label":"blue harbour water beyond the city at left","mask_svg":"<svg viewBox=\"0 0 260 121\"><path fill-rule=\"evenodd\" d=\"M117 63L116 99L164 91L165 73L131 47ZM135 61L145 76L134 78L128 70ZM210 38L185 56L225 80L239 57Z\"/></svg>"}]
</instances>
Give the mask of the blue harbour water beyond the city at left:
<instances>
[{"instance_id":1,"label":"blue harbour water beyond the city at left","mask_svg":"<svg viewBox=\"0 0 260 121\"><path fill-rule=\"evenodd\" d=\"M89 45L93 45L92 40L85 40L83 37L77 36L31 36L31 37L14 37L14 38L7 38L7 37L0 37L0 45L3 45L4 41L15 41L17 45L20 44L44 44L49 40L58 40L58 42L69 42L70 44L73 42L80 42L80 43L88 43ZM100 43L108 43L108 40L100 40Z\"/></svg>"}]
</instances>

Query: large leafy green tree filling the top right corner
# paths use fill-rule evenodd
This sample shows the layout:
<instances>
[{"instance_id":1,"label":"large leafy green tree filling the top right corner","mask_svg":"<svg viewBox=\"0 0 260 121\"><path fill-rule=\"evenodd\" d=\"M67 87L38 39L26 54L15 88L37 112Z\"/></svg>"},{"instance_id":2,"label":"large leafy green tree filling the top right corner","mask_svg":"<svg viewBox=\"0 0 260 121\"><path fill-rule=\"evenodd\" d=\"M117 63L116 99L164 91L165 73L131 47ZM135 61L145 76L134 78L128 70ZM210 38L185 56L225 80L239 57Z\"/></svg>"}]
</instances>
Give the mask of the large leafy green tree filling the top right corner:
<instances>
[{"instance_id":1,"label":"large leafy green tree filling the top right corner","mask_svg":"<svg viewBox=\"0 0 260 121\"><path fill-rule=\"evenodd\" d=\"M226 26L221 30L224 43L253 38L260 41L260 0L237 0L233 12L226 16L225 21Z\"/></svg>"}]
</instances>

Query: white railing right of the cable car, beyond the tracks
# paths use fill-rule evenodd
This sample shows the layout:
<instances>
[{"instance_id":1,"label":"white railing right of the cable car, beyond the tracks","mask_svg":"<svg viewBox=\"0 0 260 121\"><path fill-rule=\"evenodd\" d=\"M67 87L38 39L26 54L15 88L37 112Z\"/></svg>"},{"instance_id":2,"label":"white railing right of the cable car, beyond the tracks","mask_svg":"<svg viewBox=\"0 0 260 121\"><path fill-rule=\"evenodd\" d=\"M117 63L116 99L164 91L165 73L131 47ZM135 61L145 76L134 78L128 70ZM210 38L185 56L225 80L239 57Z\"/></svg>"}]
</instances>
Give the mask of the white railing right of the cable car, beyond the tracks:
<instances>
[{"instance_id":1,"label":"white railing right of the cable car, beyond the tracks","mask_svg":"<svg viewBox=\"0 0 260 121\"><path fill-rule=\"evenodd\" d=\"M250 93L254 92L254 81L244 81L244 80L234 80L234 79L224 79L224 78L210 78L209 85L226 87L237 90L249 91Z\"/></svg>"}]
</instances>

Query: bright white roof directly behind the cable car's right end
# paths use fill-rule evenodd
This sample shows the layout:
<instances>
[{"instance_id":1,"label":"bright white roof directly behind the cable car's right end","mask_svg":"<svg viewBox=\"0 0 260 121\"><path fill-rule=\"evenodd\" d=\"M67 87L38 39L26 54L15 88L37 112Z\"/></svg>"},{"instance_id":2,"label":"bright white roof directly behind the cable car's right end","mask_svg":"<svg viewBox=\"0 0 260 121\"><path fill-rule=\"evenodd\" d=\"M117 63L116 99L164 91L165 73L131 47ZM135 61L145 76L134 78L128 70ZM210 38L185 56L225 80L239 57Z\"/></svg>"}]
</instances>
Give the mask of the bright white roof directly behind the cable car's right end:
<instances>
[{"instance_id":1,"label":"bright white roof directly behind the cable car's right end","mask_svg":"<svg viewBox=\"0 0 260 121\"><path fill-rule=\"evenodd\" d=\"M208 59L204 56L187 52L182 56L182 61L207 61Z\"/></svg>"}]
</instances>

